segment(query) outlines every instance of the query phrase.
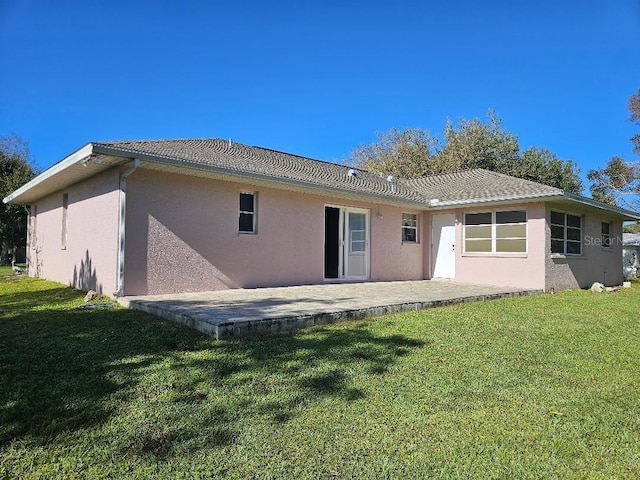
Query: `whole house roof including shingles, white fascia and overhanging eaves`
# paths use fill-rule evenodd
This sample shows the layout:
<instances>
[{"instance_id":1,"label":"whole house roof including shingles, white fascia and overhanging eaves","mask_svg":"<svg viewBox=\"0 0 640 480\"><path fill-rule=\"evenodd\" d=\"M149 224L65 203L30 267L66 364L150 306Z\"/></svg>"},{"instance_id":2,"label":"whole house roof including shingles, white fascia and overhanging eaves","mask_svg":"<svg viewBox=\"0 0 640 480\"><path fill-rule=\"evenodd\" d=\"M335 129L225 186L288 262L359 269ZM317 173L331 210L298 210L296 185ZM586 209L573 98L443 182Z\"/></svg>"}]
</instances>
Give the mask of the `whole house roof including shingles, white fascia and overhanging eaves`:
<instances>
[{"instance_id":1,"label":"whole house roof including shingles, white fascia and overhanging eaves","mask_svg":"<svg viewBox=\"0 0 640 480\"><path fill-rule=\"evenodd\" d=\"M95 155L100 162L88 162ZM191 173L235 181L265 182L305 192L328 192L339 198L416 208L448 208L486 202L554 199L578 202L606 210L626 220L640 219L634 212L572 195L554 187L488 170L467 170L413 180L387 181L385 175L355 170L335 163L250 147L222 139L134 140L93 142L50 167L4 199L32 203L100 171L137 158L147 168Z\"/></svg>"}]
</instances>

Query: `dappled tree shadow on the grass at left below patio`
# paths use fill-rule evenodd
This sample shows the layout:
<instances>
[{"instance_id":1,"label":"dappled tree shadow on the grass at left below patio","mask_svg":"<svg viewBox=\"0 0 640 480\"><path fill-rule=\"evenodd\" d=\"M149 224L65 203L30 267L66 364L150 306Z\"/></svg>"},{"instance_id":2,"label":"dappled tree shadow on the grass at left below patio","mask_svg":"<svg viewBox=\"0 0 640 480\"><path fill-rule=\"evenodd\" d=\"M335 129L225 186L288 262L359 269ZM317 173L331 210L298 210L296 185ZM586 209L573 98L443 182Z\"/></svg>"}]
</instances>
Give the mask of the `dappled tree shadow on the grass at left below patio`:
<instances>
[{"instance_id":1,"label":"dappled tree shadow on the grass at left below patio","mask_svg":"<svg viewBox=\"0 0 640 480\"><path fill-rule=\"evenodd\" d=\"M142 312L56 309L78 295L0 299L0 448L79 431L135 456L226 445L247 418L277 424L323 399L364 399L354 371L382 375L424 345L362 323L216 342ZM126 426L101 433L109 422Z\"/></svg>"}]
</instances>

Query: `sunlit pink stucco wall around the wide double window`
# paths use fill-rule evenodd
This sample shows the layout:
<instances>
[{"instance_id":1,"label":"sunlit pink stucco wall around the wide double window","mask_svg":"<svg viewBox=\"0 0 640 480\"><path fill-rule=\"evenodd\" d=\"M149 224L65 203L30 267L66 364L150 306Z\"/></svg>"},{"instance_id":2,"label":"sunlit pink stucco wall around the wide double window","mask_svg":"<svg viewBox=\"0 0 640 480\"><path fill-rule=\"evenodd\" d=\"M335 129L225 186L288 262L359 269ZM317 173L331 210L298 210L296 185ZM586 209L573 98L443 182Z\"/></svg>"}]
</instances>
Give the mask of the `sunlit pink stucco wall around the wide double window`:
<instances>
[{"instance_id":1,"label":"sunlit pink stucco wall around the wide double window","mask_svg":"<svg viewBox=\"0 0 640 480\"><path fill-rule=\"evenodd\" d=\"M464 214L506 210L527 211L526 254L464 252ZM456 215L456 281L516 288L543 289L545 280L545 206L543 203L469 208Z\"/></svg>"}]
</instances>

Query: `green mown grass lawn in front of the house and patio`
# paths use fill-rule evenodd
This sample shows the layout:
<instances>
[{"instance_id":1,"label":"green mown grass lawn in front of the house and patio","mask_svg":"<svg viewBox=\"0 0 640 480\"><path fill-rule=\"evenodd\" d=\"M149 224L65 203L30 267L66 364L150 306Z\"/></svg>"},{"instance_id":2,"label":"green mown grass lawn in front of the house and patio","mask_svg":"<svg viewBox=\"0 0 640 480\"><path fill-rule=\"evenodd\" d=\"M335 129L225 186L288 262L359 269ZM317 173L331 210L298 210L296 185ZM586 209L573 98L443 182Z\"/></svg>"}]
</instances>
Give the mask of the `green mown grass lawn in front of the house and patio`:
<instances>
[{"instance_id":1,"label":"green mown grass lawn in front of the house and patio","mask_svg":"<svg viewBox=\"0 0 640 480\"><path fill-rule=\"evenodd\" d=\"M0 478L640 478L640 284L214 341L0 271Z\"/></svg>"}]
</instances>

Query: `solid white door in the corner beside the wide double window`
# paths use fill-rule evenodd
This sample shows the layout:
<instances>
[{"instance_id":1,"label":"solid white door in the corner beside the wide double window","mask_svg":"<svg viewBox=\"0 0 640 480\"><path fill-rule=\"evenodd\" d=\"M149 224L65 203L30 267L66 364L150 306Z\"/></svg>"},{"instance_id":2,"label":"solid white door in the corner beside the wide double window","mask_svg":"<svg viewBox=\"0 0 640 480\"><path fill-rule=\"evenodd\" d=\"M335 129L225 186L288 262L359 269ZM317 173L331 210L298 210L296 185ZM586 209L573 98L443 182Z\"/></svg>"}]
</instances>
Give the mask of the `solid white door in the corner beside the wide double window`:
<instances>
[{"instance_id":1,"label":"solid white door in the corner beside the wide double window","mask_svg":"<svg viewBox=\"0 0 640 480\"><path fill-rule=\"evenodd\" d=\"M431 220L433 278L456 276L456 216L434 215Z\"/></svg>"}]
</instances>

